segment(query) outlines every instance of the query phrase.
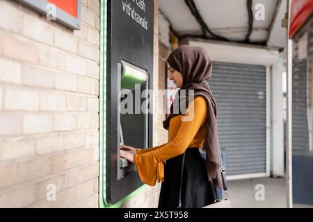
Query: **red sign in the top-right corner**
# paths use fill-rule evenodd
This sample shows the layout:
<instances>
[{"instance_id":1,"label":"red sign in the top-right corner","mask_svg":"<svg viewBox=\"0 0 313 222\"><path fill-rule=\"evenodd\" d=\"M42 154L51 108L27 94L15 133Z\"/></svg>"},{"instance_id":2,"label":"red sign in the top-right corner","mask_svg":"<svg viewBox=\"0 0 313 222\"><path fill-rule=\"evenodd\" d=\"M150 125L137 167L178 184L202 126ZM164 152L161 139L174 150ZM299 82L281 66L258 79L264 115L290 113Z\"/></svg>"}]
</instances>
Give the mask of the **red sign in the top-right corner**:
<instances>
[{"instance_id":1,"label":"red sign in the top-right corner","mask_svg":"<svg viewBox=\"0 0 313 222\"><path fill-rule=\"evenodd\" d=\"M313 13L313 0L292 0L290 12L289 38L307 22Z\"/></svg>"}]
</instances>

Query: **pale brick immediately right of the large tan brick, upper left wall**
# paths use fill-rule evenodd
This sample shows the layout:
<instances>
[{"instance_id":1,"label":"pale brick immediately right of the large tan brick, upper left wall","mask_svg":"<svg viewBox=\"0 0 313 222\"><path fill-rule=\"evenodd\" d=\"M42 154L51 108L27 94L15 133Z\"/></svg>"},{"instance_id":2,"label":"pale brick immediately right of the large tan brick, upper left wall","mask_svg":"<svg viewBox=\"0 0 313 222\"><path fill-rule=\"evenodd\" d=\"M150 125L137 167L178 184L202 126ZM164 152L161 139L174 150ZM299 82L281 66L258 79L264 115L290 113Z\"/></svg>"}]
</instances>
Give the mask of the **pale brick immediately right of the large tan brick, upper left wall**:
<instances>
[{"instance_id":1,"label":"pale brick immediately right of the large tan brick, upper left wall","mask_svg":"<svg viewBox=\"0 0 313 222\"><path fill-rule=\"evenodd\" d=\"M49 46L40 47L40 64L52 69L65 70L65 53Z\"/></svg>"}]
</instances>

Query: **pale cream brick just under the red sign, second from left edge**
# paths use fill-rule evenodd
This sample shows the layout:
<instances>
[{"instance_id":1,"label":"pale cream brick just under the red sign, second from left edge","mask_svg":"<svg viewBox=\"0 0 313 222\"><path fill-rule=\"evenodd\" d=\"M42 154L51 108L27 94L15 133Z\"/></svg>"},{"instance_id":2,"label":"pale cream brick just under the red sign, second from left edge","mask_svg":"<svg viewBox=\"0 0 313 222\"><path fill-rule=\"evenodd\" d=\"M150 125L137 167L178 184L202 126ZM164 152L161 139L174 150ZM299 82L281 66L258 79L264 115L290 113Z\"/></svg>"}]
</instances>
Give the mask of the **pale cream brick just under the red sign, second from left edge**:
<instances>
[{"instance_id":1,"label":"pale cream brick just under the red sign, second from left edge","mask_svg":"<svg viewBox=\"0 0 313 222\"><path fill-rule=\"evenodd\" d=\"M39 19L23 16L23 35L45 44L54 44L54 28Z\"/></svg>"}]
</instances>

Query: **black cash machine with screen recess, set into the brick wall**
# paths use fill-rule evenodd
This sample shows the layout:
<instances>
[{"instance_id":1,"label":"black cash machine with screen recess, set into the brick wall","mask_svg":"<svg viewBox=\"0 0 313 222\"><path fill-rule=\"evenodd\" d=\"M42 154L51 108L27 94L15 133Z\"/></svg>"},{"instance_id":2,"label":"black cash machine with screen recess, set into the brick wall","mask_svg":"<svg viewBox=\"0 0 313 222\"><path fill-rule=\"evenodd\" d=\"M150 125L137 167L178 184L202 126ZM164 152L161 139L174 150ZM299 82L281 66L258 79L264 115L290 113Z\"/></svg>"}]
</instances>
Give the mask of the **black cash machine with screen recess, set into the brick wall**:
<instances>
[{"instance_id":1,"label":"black cash machine with screen recess, set into the brick wall","mask_svg":"<svg viewBox=\"0 0 313 222\"><path fill-rule=\"evenodd\" d=\"M125 2L130 13L123 9ZM106 201L113 204L143 185L134 164L120 158L120 144L152 146L152 113L148 112L152 101L147 100L152 95L147 89L153 86L154 1L143 2L144 10L136 1L109 0L107 5L106 176L102 188ZM145 19L145 26L132 17L133 12Z\"/></svg>"}]
</instances>

